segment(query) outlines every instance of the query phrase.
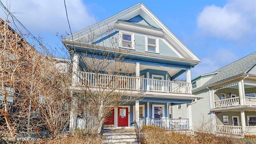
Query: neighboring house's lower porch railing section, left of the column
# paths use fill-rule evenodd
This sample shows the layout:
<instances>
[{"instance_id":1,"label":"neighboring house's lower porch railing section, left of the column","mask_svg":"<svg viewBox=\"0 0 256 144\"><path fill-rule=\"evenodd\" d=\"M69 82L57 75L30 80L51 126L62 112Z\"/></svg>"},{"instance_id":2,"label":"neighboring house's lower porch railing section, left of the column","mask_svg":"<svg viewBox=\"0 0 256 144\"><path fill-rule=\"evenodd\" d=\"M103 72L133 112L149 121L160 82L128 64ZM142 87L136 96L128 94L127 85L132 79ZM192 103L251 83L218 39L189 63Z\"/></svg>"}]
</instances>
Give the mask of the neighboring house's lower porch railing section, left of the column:
<instances>
[{"instance_id":1,"label":"neighboring house's lower porch railing section, left of the column","mask_svg":"<svg viewBox=\"0 0 256 144\"><path fill-rule=\"evenodd\" d=\"M217 125L216 130L219 133L225 133L225 134L236 134L236 135L241 135L242 134L242 126Z\"/></svg>"}]
</instances>

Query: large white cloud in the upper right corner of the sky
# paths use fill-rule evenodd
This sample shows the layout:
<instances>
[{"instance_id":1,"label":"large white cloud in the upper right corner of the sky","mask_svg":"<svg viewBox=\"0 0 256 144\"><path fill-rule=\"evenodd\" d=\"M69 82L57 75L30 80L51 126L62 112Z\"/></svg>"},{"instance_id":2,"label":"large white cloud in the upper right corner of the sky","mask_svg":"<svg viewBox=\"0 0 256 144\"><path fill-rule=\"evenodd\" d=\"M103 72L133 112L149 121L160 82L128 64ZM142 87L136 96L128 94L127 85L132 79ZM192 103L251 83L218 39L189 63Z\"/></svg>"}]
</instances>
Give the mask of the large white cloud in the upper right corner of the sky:
<instances>
[{"instance_id":1,"label":"large white cloud in the upper right corner of the sky","mask_svg":"<svg viewBox=\"0 0 256 144\"><path fill-rule=\"evenodd\" d=\"M230 0L223 6L206 6L197 26L208 36L238 40L256 31L256 1Z\"/></svg>"}]
</instances>

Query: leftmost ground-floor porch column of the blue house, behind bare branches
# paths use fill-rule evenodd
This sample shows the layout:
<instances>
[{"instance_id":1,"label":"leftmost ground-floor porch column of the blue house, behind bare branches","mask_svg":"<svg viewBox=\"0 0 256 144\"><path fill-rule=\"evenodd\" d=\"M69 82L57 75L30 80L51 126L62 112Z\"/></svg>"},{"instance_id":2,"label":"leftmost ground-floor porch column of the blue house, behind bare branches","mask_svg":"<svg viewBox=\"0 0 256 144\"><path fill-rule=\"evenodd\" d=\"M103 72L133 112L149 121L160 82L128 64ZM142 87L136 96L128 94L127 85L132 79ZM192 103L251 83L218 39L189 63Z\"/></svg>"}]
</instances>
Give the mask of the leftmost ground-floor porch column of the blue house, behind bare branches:
<instances>
[{"instance_id":1,"label":"leftmost ground-floor porch column of the blue house, behind bare branches","mask_svg":"<svg viewBox=\"0 0 256 144\"><path fill-rule=\"evenodd\" d=\"M73 92L71 92L70 121L69 121L70 131L76 129L77 106L78 106L78 100L75 96L73 96Z\"/></svg>"}]
</instances>

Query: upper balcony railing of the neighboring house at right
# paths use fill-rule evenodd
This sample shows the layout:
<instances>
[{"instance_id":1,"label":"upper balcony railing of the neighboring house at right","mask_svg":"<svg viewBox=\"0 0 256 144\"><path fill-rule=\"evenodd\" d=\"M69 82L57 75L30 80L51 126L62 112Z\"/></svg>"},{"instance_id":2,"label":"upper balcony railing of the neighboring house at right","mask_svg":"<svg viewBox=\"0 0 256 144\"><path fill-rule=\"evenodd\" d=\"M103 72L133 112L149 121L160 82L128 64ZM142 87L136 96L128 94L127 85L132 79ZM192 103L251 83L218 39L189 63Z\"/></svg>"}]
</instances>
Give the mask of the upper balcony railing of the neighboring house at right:
<instances>
[{"instance_id":1,"label":"upper balcony railing of the neighboring house at right","mask_svg":"<svg viewBox=\"0 0 256 144\"><path fill-rule=\"evenodd\" d=\"M225 108L231 106L240 106L239 97L226 98L223 100L216 100L214 102L215 108ZM245 97L244 105L256 106L255 97Z\"/></svg>"}]
</instances>

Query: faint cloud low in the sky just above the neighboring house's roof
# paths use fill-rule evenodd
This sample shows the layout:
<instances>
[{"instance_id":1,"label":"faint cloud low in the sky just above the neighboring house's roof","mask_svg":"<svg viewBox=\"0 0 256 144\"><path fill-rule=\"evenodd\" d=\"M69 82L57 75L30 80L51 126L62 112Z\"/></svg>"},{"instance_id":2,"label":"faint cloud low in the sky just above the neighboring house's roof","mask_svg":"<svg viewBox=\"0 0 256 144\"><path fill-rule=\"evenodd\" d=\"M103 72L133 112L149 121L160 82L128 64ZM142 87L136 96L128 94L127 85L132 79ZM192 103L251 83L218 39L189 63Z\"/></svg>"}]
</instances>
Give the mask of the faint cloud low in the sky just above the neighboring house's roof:
<instances>
[{"instance_id":1,"label":"faint cloud low in the sky just above the neighboring house's roof","mask_svg":"<svg viewBox=\"0 0 256 144\"><path fill-rule=\"evenodd\" d=\"M236 60L238 56L229 49L220 48L214 52L207 52L202 62L191 70L192 78L202 74L208 74L222 68Z\"/></svg>"}]
</instances>

